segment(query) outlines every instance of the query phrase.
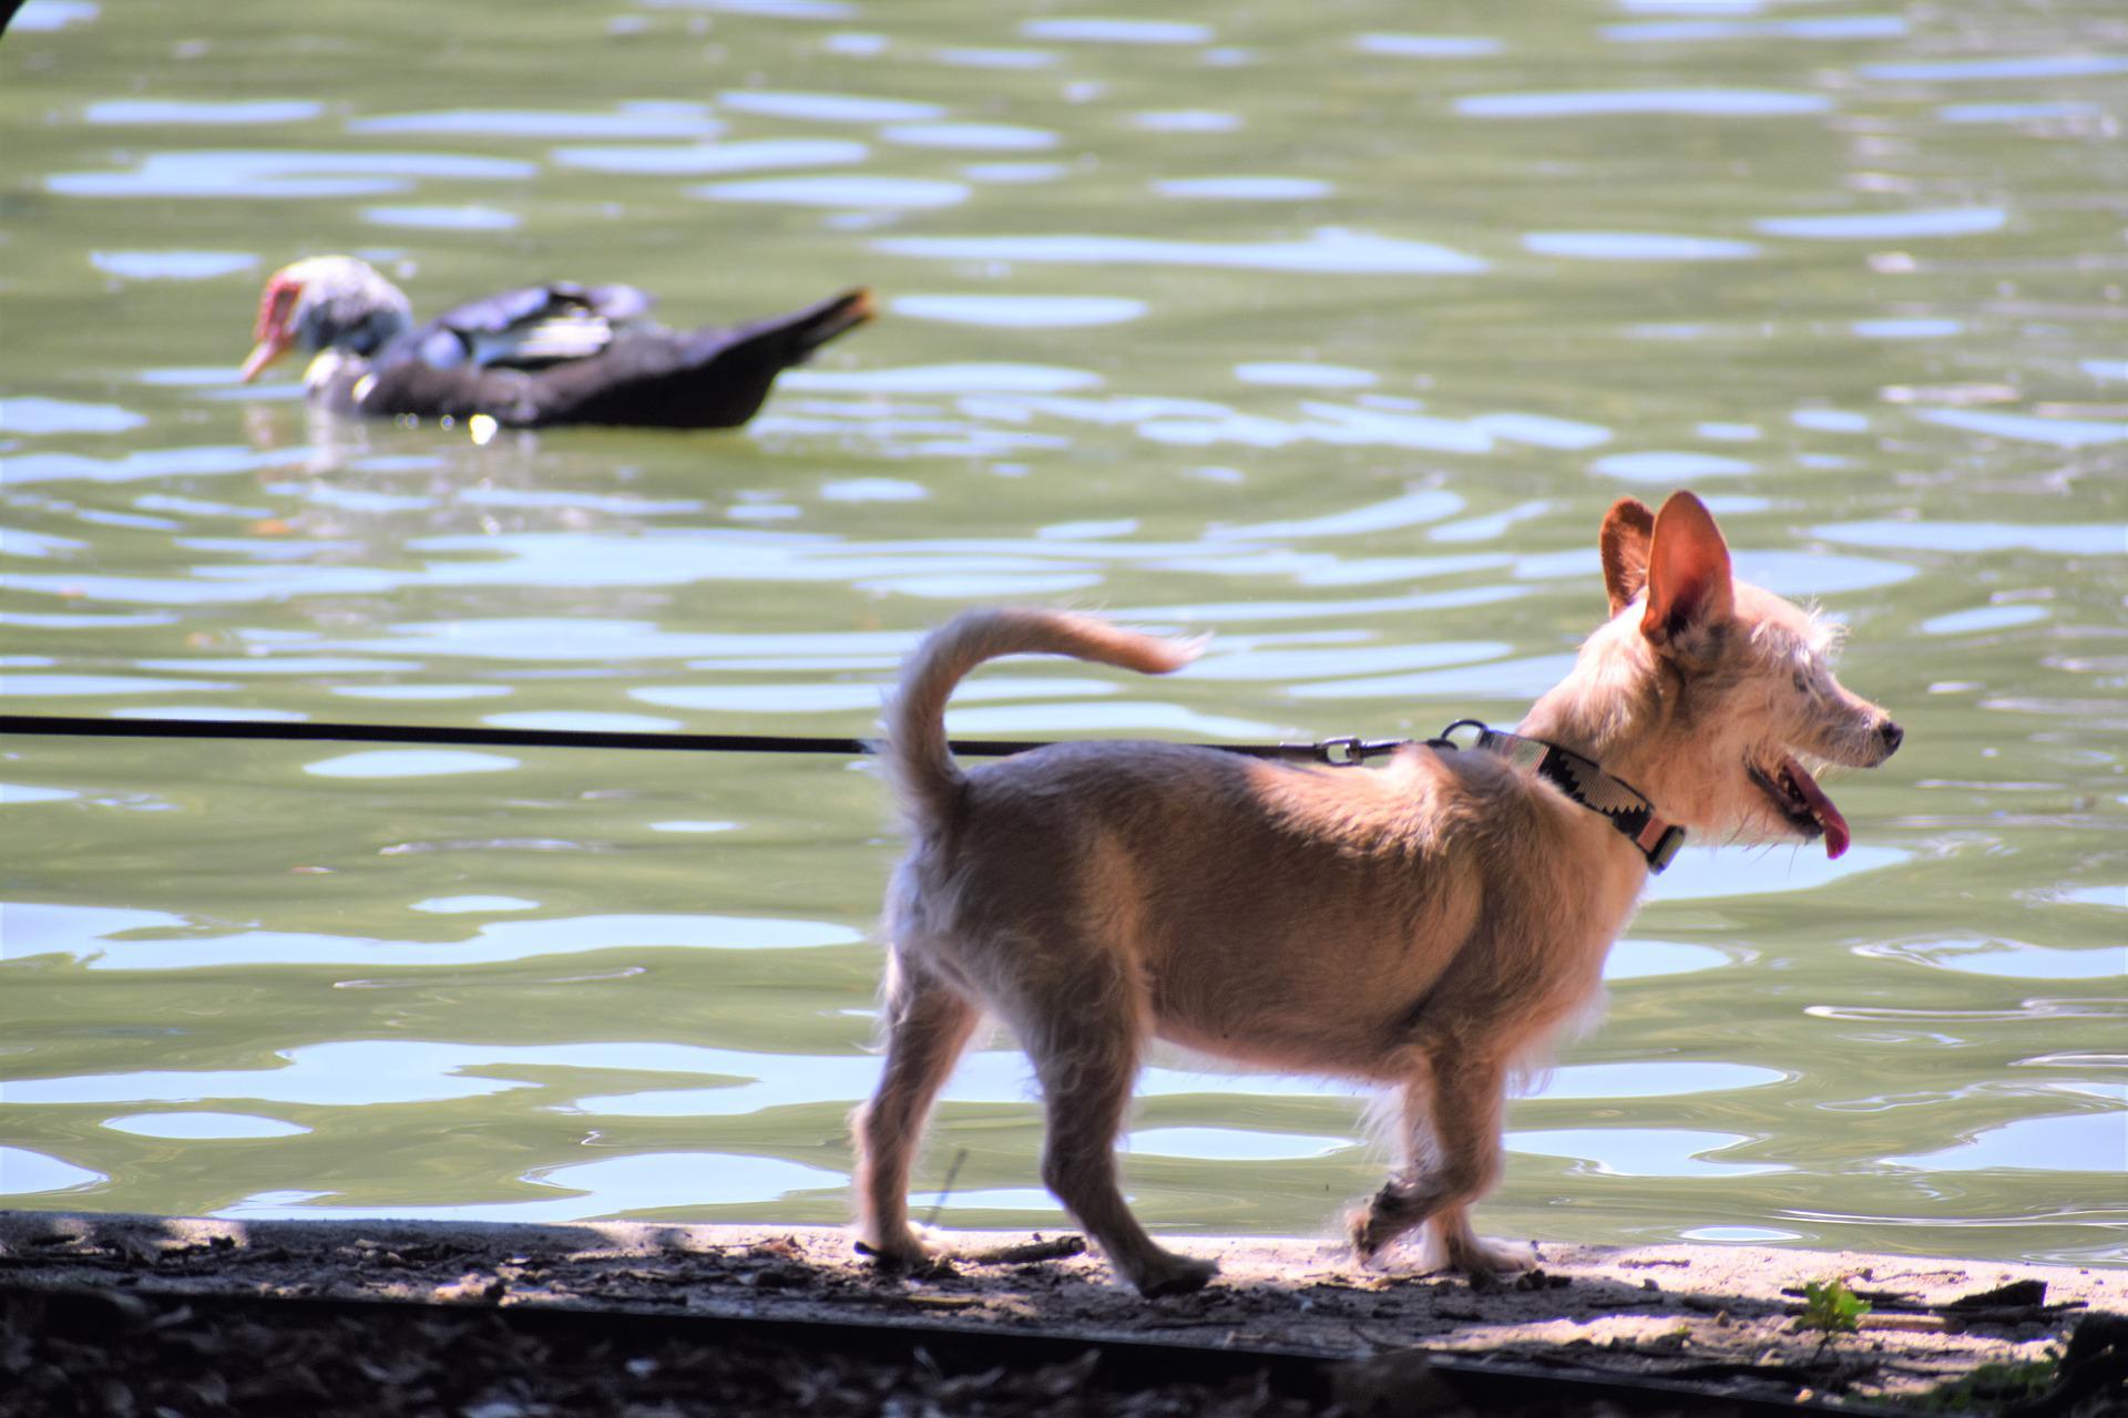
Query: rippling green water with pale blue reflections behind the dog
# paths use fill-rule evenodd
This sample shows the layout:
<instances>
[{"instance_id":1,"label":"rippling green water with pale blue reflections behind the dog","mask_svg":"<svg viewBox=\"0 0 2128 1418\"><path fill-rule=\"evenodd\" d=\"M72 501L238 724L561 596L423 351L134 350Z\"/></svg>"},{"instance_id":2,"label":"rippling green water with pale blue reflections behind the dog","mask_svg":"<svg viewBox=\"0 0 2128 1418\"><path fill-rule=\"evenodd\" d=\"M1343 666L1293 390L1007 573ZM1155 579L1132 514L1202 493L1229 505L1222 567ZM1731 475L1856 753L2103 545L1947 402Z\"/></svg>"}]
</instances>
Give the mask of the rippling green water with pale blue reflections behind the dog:
<instances>
[{"instance_id":1,"label":"rippling green water with pale blue reflections behind the dog","mask_svg":"<svg viewBox=\"0 0 2128 1418\"><path fill-rule=\"evenodd\" d=\"M1130 13L1130 21L1104 15ZM11 712L860 733L975 602L1209 629L955 731L1511 723L1692 485L1907 725L1688 850L1502 1235L2128 1261L2128 28L1839 4L151 6L0 45ZM257 289L883 319L743 434L306 417ZM0 1205L841 1220L894 859L841 761L0 742ZM919 1176L1058 1225L1002 1042ZM1324 1233L1360 1099L1162 1061L1164 1231Z\"/></svg>"}]
</instances>

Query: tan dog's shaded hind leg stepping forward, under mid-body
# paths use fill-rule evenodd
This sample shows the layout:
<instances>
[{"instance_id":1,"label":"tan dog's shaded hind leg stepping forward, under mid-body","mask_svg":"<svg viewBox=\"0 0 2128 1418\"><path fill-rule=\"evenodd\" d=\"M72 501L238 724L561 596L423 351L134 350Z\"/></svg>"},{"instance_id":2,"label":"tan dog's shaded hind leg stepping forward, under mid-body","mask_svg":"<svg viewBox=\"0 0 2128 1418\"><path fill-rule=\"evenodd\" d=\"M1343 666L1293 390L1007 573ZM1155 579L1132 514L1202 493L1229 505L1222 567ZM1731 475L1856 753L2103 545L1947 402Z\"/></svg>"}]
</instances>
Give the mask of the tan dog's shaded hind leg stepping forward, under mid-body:
<instances>
[{"instance_id":1,"label":"tan dog's shaded hind leg stepping forward, under mid-body","mask_svg":"<svg viewBox=\"0 0 2128 1418\"><path fill-rule=\"evenodd\" d=\"M1047 1105L1043 1182L1141 1295L1200 1290L1219 1265L1158 1246L1117 1186L1115 1135L1138 1074L1136 984L1107 952L1081 948L1051 959L1083 963L1077 978L1045 982L1053 997L1043 1008L1013 1012ZM1060 1008L1064 999L1070 1008Z\"/></svg>"}]
</instances>

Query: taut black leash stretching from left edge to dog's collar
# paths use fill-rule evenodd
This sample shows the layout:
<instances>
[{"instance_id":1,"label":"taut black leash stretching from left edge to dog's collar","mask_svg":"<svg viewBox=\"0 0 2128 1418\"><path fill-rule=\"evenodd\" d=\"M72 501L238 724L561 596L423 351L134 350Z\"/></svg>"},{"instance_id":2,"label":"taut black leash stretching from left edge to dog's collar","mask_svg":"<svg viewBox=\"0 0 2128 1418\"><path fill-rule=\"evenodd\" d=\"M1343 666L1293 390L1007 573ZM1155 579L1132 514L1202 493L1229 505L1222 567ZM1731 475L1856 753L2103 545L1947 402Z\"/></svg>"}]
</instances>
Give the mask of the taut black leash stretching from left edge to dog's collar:
<instances>
[{"instance_id":1,"label":"taut black leash stretching from left edge to dog's collar","mask_svg":"<svg viewBox=\"0 0 2128 1418\"><path fill-rule=\"evenodd\" d=\"M619 729L492 729L423 727L404 723L272 723L257 719L77 719L66 714L0 714L0 733L53 733L68 738L238 738L334 744L455 744L481 748L662 748L679 753L815 753L864 757L862 738L804 738L789 733L632 733ZM1360 763L1394 753L1409 740L1328 738L1319 744L1196 744L1251 759L1304 759ZM1049 740L955 738L966 757L1004 757L1047 748Z\"/></svg>"}]
</instances>

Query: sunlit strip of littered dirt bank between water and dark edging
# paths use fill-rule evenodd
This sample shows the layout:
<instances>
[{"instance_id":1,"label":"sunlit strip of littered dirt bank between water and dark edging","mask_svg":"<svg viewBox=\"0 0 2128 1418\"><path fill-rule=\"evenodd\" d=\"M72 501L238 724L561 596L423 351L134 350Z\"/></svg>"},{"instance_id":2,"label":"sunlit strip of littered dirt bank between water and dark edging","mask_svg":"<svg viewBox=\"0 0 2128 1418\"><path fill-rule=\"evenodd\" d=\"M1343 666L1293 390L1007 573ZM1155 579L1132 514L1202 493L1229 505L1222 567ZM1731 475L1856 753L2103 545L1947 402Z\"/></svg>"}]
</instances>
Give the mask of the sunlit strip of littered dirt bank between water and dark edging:
<instances>
[{"instance_id":1,"label":"sunlit strip of littered dirt bank between water and dark edging","mask_svg":"<svg viewBox=\"0 0 2128 1418\"><path fill-rule=\"evenodd\" d=\"M1253 1350L1441 1356L1688 1382L1707 1397L1909 1403L1988 1365L2045 1365L2092 1314L2128 1327L2128 1269L1775 1250L1545 1244L1539 1269L1364 1269L1336 1244L1175 1237L1219 1280L1145 1301L1058 1233L943 1233L958 1254L881 1276L847 1229L658 1222L204 1220L0 1212L0 1284L194 1297L368 1299L702 1320L789 1320ZM1853 1333L1798 1329L1802 1288L1873 1303ZM2128 1350L2128 1344L2122 1344ZM2030 1371L2028 1371L2030 1373ZM2071 1412L2071 1409L2062 1409Z\"/></svg>"}]
</instances>

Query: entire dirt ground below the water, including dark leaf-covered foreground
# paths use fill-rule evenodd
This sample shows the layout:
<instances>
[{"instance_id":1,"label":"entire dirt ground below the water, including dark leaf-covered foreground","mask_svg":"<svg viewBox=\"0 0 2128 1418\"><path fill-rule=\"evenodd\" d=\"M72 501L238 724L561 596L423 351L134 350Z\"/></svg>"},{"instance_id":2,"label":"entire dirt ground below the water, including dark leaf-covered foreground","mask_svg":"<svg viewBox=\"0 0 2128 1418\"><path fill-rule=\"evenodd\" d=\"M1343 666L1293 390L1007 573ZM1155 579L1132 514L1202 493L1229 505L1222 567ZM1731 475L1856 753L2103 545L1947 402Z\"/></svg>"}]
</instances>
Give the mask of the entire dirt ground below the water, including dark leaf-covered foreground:
<instances>
[{"instance_id":1,"label":"entire dirt ground below the water, including dark leaf-covered foreground","mask_svg":"<svg viewBox=\"0 0 2128 1418\"><path fill-rule=\"evenodd\" d=\"M0 1416L2128 1414L2119 1269L1547 1244L1473 1286L1238 1237L1149 1303L1077 1237L945 1239L881 1276L813 1227L0 1212ZM1851 1333L1800 1324L1830 1280Z\"/></svg>"}]
</instances>

